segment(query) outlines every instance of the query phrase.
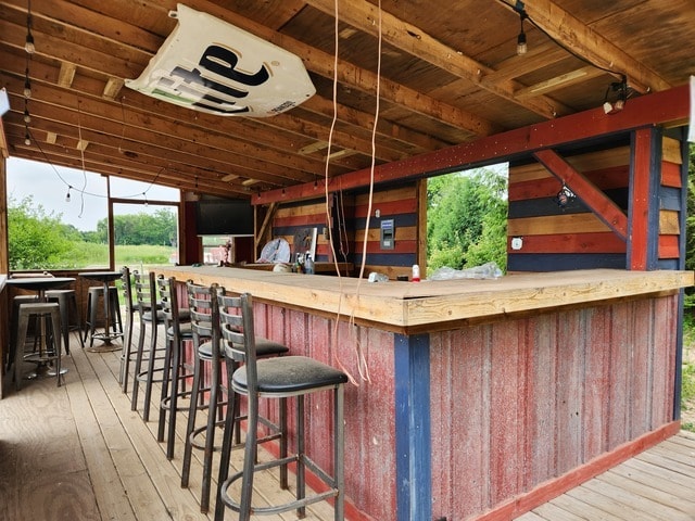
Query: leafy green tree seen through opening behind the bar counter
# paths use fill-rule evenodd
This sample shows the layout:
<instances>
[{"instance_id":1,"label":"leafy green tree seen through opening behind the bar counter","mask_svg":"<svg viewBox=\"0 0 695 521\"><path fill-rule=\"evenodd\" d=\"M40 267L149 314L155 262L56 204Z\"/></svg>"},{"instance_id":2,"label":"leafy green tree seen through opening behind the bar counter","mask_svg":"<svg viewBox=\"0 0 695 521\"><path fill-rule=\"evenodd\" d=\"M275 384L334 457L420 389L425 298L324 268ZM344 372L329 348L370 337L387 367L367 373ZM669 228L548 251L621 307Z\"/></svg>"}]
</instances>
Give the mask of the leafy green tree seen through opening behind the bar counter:
<instances>
[{"instance_id":1,"label":"leafy green tree seen through opening behind the bar counter","mask_svg":"<svg viewBox=\"0 0 695 521\"><path fill-rule=\"evenodd\" d=\"M479 168L428 181L428 271L494 260L506 267L506 177Z\"/></svg>"}]
</instances>

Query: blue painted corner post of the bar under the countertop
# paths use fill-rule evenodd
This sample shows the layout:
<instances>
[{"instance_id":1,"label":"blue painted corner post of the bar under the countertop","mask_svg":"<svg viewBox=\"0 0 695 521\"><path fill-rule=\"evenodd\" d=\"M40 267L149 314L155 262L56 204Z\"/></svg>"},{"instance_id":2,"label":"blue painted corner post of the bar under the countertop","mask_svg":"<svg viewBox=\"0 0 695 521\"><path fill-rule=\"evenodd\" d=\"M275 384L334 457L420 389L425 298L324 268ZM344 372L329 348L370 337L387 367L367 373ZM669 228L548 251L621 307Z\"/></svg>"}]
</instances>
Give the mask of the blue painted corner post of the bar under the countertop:
<instances>
[{"instance_id":1,"label":"blue painted corner post of the bar under the countertop","mask_svg":"<svg viewBox=\"0 0 695 521\"><path fill-rule=\"evenodd\" d=\"M432 519L429 334L394 339L396 519Z\"/></svg>"}]
</instances>

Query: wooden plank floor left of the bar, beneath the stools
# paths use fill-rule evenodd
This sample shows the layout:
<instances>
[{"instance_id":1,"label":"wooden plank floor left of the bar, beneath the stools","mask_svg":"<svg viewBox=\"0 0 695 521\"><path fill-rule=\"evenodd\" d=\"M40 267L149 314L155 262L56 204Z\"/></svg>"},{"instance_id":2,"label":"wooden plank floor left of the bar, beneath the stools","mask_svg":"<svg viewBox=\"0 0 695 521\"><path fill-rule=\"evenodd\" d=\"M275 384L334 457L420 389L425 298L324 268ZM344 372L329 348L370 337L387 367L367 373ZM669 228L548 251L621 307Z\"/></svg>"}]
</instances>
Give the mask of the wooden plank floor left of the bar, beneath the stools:
<instances>
[{"instance_id":1,"label":"wooden plank floor left of the bar, beneath the stools","mask_svg":"<svg viewBox=\"0 0 695 521\"><path fill-rule=\"evenodd\" d=\"M165 444L156 442L157 407L153 403L144 423L139 411L130 410L129 394L121 391L121 351L83 351L76 336L71 344L61 387L55 378L45 378L24 381L17 393L11 378L5 379L0 401L0 521L212 519L217 460L208 514L200 512L199 450L193 452L190 488L179 485L187 415L179 412L176 454L168 461ZM153 396L159 397L159 390ZM200 424L204 421L200 417ZM232 454L232 466L239 468L242 450ZM289 495L271 492L277 479L270 472L256 484L257 505ZM227 510L225 519L237 514ZM292 511L252 519L288 521L296 516ZM332 508L325 501L313 505L305 519L332 520Z\"/></svg>"}]
</instances>

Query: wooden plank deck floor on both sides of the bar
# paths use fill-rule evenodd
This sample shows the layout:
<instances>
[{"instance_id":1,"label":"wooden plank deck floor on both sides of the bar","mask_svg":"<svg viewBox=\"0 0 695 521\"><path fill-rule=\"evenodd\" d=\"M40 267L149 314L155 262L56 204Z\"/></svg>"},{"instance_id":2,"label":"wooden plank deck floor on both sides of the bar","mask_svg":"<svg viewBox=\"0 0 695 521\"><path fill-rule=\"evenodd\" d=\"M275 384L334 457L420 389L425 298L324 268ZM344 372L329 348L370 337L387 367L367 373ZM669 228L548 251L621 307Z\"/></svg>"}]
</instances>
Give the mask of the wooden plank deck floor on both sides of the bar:
<instances>
[{"instance_id":1,"label":"wooden plank deck floor on both sides of the bar","mask_svg":"<svg viewBox=\"0 0 695 521\"><path fill-rule=\"evenodd\" d=\"M20 393L7 390L0 401L0 521L212 519L199 508L200 463L191 487L180 488L182 442L167 461L156 421L146 424L121 392L118 356L74 347L64 358L62 387L51 378L25 382ZM241 453L235 457L238 466ZM258 481L260 497L269 483ZM681 432L517 521L695 520L694 490L695 435ZM226 519L236 516L228 511ZM331 520L332 510L318 504L306 519Z\"/></svg>"}]
</instances>

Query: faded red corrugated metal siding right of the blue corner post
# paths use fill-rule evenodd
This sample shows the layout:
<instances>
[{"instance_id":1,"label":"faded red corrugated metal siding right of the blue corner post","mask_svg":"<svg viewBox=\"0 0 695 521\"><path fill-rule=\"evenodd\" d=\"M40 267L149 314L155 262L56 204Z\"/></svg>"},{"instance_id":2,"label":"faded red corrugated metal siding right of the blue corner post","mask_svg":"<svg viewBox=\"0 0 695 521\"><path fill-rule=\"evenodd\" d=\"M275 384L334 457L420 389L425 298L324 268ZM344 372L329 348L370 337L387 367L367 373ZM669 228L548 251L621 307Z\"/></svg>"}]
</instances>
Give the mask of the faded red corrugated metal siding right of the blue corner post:
<instances>
[{"instance_id":1,"label":"faded red corrugated metal siding right of the blue corner post","mask_svg":"<svg viewBox=\"0 0 695 521\"><path fill-rule=\"evenodd\" d=\"M434 518L494 508L668 423L677 310L666 296L433 334Z\"/></svg>"}]
</instances>

